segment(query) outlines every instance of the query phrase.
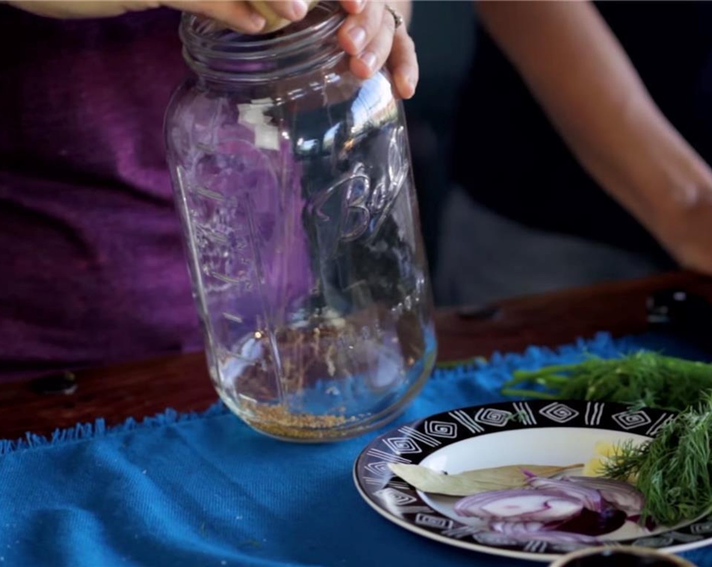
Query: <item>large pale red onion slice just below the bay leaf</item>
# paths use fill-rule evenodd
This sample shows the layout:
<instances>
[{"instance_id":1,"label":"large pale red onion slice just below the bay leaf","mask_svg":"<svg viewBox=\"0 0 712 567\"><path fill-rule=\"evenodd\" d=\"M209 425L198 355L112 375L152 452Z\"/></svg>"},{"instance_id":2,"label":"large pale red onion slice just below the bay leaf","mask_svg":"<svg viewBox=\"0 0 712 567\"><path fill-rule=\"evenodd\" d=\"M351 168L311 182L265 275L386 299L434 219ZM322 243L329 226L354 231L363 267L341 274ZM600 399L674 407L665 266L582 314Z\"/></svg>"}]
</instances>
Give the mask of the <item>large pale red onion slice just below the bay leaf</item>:
<instances>
[{"instance_id":1,"label":"large pale red onion slice just below the bay leaf","mask_svg":"<svg viewBox=\"0 0 712 567\"><path fill-rule=\"evenodd\" d=\"M544 522L571 519L580 514L579 499L548 489L496 490L465 496L455 503L455 513L510 522Z\"/></svg>"}]
</instances>

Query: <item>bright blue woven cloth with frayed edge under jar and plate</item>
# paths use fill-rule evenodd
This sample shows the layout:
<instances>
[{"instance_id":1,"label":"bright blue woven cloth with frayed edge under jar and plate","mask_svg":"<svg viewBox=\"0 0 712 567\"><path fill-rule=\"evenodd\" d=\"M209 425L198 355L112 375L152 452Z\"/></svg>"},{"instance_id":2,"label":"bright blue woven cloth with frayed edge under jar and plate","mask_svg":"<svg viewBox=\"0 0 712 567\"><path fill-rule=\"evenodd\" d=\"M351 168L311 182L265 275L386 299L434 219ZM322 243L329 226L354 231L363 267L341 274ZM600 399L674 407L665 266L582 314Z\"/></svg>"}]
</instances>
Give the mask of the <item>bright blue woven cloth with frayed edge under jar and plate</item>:
<instances>
[{"instance_id":1,"label":"bright blue woven cloth with frayed edge under jar and plate","mask_svg":"<svg viewBox=\"0 0 712 567\"><path fill-rule=\"evenodd\" d=\"M496 401L516 368L640 347L698 355L655 337L604 334L556 352L496 355L436 371L400 422ZM429 541L372 511L351 476L372 436L288 444L216 406L0 442L0 567L527 564ZM688 558L712 567L712 548Z\"/></svg>"}]
</instances>

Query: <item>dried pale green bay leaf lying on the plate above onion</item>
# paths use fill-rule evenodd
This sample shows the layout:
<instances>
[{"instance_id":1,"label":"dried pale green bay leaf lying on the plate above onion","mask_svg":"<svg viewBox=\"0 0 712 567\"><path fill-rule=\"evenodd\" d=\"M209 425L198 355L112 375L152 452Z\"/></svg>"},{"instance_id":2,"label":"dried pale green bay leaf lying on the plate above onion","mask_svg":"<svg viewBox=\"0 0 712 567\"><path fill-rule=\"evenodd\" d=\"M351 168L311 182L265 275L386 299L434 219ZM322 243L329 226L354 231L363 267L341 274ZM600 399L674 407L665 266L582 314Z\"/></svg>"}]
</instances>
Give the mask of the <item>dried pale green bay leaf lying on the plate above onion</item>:
<instances>
[{"instance_id":1,"label":"dried pale green bay leaf lying on the plate above onion","mask_svg":"<svg viewBox=\"0 0 712 567\"><path fill-rule=\"evenodd\" d=\"M493 490L520 489L527 485L529 471L536 476L555 476L582 464L569 466L548 466L536 464L516 464L496 466L492 469L476 469L458 474L444 474L417 464L389 463L389 469L414 488L430 494L445 496L470 496Z\"/></svg>"}]
</instances>

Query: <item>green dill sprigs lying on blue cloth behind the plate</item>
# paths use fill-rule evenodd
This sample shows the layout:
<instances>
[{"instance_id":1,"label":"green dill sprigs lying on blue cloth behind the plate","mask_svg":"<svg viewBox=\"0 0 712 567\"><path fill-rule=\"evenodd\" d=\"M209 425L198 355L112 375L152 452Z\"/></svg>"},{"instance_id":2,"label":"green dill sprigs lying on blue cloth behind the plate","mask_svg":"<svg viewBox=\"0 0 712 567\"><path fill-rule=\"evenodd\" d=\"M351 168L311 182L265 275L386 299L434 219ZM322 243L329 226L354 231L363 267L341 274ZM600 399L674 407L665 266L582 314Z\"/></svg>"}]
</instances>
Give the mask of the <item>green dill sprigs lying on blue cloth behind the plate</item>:
<instances>
[{"instance_id":1,"label":"green dill sprigs lying on blue cloth behind the plate","mask_svg":"<svg viewBox=\"0 0 712 567\"><path fill-rule=\"evenodd\" d=\"M538 399L587 399L680 412L712 389L712 364L639 351L617 359L518 370L502 394Z\"/></svg>"}]
</instances>

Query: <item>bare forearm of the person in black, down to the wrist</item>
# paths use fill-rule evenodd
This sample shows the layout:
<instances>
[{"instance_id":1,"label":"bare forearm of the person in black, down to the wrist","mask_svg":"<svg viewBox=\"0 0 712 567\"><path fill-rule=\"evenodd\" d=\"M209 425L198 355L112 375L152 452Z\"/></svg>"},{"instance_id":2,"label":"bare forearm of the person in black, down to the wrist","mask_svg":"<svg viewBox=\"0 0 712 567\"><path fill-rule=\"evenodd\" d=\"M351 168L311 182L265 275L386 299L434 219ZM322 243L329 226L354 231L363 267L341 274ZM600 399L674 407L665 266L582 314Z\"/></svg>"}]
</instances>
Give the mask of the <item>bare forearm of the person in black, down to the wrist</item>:
<instances>
[{"instance_id":1,"label":"bare forearm of the person in black, down to the wrist","mask_svg":"<svg viewBox=\"0 0 712 567\"><path fill-rule=\"evenodd\" d=\"M594 6L482 2L479 11L582 165L645 223L657 199L693 202L696 188L712 187Z\"/></svg>"}]
</instances>

